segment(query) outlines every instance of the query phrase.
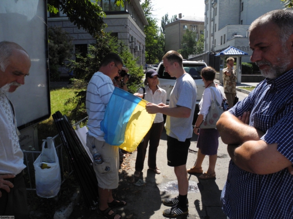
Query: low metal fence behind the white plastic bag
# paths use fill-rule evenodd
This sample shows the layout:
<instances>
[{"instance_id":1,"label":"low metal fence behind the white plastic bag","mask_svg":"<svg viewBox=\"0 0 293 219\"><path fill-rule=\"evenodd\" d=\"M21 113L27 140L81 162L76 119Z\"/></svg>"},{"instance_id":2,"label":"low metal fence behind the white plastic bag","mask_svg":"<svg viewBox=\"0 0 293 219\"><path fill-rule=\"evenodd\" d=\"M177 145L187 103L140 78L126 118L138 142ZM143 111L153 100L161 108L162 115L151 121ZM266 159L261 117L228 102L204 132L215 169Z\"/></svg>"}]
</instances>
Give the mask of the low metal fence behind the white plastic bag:
<instances>
[{"instance_id":1,"label":"low metal fence behind the white plastic bag","mask_svg":"<svg viewBox=\"0 0 293 219\"><path fill-rule=\"evenodd\" d=\"M73 125L73 127L79 128L79 124L82 121L84 121L86 118L87 117L85 117L83 120ZM61 139L58 139L58 138L60 138L59 134L52 137L54 145L55 145L55 142L61 142ZM63 183L66 180L66 176L70 175L73 172L73 169L71 167L69 157L67 156L67 153L64 149L63 143L59 144L55 148L58 155L59 165L61 170L61 183ZM36 158L38 158L38 156L42 153L42 151L23 150L23 153L24 153L24 164L26 165L26 168L24 169L24 176L26 179L26 188L27 190L35 190L35 176L34 176L33 162L36 160Z\"/></svg>"}]
</instances>

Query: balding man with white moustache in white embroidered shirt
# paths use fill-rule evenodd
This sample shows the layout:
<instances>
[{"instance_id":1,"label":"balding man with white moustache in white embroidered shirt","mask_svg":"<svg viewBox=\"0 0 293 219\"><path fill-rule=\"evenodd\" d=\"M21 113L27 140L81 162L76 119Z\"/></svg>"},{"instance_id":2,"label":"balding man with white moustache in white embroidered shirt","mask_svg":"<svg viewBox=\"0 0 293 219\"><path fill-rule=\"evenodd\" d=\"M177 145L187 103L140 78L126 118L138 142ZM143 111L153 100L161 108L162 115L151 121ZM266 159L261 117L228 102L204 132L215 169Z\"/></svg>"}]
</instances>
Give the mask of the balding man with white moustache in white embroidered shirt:
<instances>
[{"instance_id":1,"label":"balding man with white moustache in white embroidered shirt","mask_svg":"<svg viewBox=\"0 0 293 219\"><path fill-rule=\"evenodd\" d=\"M24 156L15 113L6 92L24 85L30 58L18 44L0 42L0 215L27 217Z\"/></svg>"}]
</instances>

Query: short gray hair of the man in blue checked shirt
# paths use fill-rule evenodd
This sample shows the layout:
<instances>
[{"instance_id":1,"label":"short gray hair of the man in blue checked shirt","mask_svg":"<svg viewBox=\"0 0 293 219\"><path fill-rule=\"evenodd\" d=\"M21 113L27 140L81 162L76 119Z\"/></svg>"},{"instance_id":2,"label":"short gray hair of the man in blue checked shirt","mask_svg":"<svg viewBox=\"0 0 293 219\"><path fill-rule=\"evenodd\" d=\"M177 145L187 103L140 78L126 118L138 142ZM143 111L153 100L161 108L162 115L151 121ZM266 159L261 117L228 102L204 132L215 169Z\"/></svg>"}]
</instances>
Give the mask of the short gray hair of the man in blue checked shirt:
<instances>
[{"instance_id":1,"label":"short gray hair of the man in blue checked shirt","mask_svg":"<svg viewBox=\"0 0 293 219\"><path fill-rule=\"evenodd\" d=\"M279 28L277 31L279 32L281 42L284 44L290 35L293 34L293 11L274 10L267 12L251 23L249 32L251 32L254 28L270 22Z\"/></svg>"}]
</instances>

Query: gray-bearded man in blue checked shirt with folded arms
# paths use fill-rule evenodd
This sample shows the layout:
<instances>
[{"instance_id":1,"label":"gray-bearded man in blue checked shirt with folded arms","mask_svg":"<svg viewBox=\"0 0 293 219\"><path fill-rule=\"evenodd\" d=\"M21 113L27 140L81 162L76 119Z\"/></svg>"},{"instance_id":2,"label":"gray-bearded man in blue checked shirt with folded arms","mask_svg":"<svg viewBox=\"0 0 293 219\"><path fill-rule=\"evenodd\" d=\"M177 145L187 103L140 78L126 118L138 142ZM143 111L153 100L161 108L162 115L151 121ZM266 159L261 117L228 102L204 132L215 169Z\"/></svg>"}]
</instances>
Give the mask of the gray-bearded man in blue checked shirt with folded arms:
<instances>
[{"instance_id":1,"label":"gray-bearded man in blue checked shirt with folded arms","mask_svg":"<svg viewBox=\"0 0 293 219\"><path fill-rule=\"evenodd\" d=\"M249 45L266 77L222 114L217 129L231 157L222 191L230 218L293 218L293 12L276 10L249 28Z\"/></svg>"}]
</instances>

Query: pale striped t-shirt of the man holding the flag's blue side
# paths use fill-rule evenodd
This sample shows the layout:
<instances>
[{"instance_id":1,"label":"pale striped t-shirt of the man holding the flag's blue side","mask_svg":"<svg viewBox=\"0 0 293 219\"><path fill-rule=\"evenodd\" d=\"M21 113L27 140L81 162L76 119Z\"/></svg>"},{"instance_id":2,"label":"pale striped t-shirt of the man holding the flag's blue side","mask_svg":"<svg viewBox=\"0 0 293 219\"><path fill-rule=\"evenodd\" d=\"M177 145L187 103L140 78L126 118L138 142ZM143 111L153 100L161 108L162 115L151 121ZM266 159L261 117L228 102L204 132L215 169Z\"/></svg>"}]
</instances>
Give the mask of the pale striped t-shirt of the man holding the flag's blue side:
<instances>
[{"instance_id":1,"label":"pale striped t-shirt of the man holding the flag's blue side","mask_svg":"<svg viewBox=\"0 0 293 219\"><path fill-rule=\"evenodd\" d=\"M111 78L102 72L96 72L90 79L86 90L86 112L88 115L88 135L105 141L105 133L101 130L101 121L104 119L105 110L114 91Z\"/></svg>"}]
</instances>

